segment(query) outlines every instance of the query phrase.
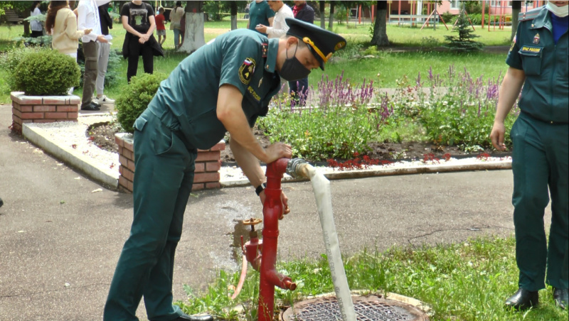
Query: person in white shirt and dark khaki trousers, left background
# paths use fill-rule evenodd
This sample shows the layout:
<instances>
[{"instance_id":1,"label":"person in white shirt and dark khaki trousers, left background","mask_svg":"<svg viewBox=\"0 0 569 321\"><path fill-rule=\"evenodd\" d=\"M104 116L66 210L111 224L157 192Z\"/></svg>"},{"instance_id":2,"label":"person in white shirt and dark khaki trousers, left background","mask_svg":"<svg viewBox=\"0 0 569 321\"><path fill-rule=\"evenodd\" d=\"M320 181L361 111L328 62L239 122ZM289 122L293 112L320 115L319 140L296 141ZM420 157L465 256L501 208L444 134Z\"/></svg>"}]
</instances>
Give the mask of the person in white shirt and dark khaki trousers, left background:
<instances>
[{"instance_id":1,"label":"person in white shirt and dark khaki trousers, left background","mask_svg":"<svg viewBox=\"0 0 569 321\"><path fill-rule=\"evenodd\" d=\"M99 6L109 3L110 0L80 0L77 7L77 25L79 30L91 29L91 33L83 36L83 55L85 55L85 74L83 75L83 97L81 110L99 110L101 105L92 101L97 81L99 43L108 43L101 32Z\"/></svg>"}]
</instances>

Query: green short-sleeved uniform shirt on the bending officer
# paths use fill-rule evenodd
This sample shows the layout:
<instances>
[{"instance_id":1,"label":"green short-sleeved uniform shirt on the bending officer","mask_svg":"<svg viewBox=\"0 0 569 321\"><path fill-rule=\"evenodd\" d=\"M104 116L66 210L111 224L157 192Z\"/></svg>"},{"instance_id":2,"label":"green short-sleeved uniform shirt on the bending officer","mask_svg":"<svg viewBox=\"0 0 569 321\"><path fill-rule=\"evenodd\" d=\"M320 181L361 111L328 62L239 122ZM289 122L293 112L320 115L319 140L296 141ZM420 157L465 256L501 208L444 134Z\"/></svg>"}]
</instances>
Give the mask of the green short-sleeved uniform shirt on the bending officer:
<instances>
[{"instance_id":1,"label":"green short-sleeved uniform shirt on the bending officer","mask_svg":"<svg viewBox=\"0 0 569 321\"><path fill-rule=\"evenodd\" d=\"M278 39L247 29L224 33L180 62L161 82L149 110L181 131L194 148L211 148L227 131L216 114L221 85L233 85L243 94L250 126L267 114L270 99L280 90L278 46Z\"/></svg>"}]
</instances>

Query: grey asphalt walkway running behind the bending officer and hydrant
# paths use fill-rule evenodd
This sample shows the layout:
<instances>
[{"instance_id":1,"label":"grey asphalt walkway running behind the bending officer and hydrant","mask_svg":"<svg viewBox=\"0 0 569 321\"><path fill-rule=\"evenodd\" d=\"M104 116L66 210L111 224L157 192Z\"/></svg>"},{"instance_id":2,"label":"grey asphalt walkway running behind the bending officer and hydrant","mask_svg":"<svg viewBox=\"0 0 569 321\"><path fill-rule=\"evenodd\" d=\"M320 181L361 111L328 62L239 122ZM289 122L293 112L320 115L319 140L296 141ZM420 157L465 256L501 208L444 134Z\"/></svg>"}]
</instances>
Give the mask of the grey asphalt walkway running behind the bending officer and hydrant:
<instances>
[{"instance_id":1,"label":"grey asphalt walkway running behind the bending officer and hydrant","mask_svg":"<svg viewBox=\"0 0 569 321\"><path fill-rule=\"evenodd\" d=\"M129 234L132 196L93 183L11 134L10 124L10 107L2 105L0 320L101 320ZM364 246L385 250L513 233L509 170L333 180L331 187L346 255ZM324 245L314 233L321 228L312 187L284 188L292 212L280 222L280 259L318 259ZM236 270L234 246L246 233L237 222L262 215L251 188L195 195L177 251L175 300L186 299L184 283L204 288L216 269ZM138 315L146 320L143 309Z\"/></svg>"}]
</instances>

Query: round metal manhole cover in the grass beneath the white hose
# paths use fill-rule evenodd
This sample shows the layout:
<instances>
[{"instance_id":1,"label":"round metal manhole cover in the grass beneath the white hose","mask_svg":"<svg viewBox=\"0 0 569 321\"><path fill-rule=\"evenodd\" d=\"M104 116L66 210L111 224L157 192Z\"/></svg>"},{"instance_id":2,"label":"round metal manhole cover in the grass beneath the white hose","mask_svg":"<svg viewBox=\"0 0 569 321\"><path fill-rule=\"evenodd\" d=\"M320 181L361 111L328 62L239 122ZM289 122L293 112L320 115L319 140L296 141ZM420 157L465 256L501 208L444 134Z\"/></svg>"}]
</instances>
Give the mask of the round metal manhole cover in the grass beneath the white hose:
<instances>
[{"instance_id":1,"label":"round metal manhole cover in the grass beneath the white hose","mask_svg":"<svg viewBox=\"0 0 569 321\"><path fill-rule=\"evenodd\" d=\"M385 300L376 295L352 297L358 321L427 321L429 317L413 305ZM282 321L342 320L338 302L333 296L295 303L281 317Z\"/></svg>"}]
</instances>

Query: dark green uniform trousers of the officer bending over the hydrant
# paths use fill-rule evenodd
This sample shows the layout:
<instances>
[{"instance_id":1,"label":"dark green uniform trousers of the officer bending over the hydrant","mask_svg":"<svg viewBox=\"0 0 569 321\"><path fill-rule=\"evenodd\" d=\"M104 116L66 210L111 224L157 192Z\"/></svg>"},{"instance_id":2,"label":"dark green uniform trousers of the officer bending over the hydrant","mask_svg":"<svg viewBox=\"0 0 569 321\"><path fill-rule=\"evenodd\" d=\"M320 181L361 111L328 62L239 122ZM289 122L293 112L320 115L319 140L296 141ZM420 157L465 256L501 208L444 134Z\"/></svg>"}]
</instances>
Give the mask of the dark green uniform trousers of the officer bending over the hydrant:
<instances>
[{"instance_id":1,"label":"dark green uniform trousers of the officer bending over the hydrant","mask_svg":"<svg viewBox=\"0 0 569 321\"><path fill-rule=\"evenodd\" d=\"M190 196L197 150L174 125L144 111L134 124L134 220L105 304L103 320L138 320L144 296L149 320L181 315L172 305L174 252Z\"/></svg>"}]
</instances>

